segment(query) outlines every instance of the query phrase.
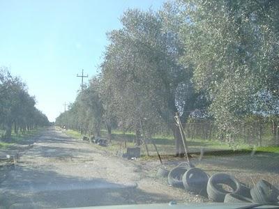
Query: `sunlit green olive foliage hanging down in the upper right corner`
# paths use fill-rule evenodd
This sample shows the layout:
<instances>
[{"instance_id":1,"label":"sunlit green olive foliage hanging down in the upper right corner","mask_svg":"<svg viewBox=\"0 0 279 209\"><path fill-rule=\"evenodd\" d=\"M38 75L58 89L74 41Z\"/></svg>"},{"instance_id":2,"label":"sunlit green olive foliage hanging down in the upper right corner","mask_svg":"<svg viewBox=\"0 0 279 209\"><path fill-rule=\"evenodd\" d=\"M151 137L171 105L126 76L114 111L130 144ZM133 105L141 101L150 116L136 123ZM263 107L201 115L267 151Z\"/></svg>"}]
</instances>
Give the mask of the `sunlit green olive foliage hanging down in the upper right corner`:
<instances>
[{"instance_id":1,"label":"sunlit green olive foliage hanging down in the upper right corner","mask_svg":"<svg viewBox=\"0 0 279 209\"><path fill-rule=\"evenodd\" d=\"M181 60L195 66L195 87L209 93L211 114L234 141L246 116L278 112L279 2L177 3L188 20L181 29L188 53ZM266 105L271 100L275 105Z\"/></svg>"}]
</instances>

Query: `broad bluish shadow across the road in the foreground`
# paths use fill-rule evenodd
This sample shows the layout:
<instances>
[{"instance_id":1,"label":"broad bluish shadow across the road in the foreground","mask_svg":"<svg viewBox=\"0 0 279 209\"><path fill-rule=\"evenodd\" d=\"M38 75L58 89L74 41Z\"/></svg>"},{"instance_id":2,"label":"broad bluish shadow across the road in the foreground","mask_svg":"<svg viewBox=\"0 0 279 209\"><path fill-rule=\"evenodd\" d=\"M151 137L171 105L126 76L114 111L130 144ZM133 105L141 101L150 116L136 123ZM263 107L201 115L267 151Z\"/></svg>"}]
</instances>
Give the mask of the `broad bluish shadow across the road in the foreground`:
<instances>
[{"instance_id":1,"label":"broad bluish shadow across the road in the foreground","mask_svg":"<svg viewBox=\"0 0 279 209\"><path fill-rule=\"evenodd\" d=\"M45 169L17 167L1 185L4 208L70 208L131 203L167 203L168 196L143 192L133 183L77 178Z\"/></svg>"}]
</instances>

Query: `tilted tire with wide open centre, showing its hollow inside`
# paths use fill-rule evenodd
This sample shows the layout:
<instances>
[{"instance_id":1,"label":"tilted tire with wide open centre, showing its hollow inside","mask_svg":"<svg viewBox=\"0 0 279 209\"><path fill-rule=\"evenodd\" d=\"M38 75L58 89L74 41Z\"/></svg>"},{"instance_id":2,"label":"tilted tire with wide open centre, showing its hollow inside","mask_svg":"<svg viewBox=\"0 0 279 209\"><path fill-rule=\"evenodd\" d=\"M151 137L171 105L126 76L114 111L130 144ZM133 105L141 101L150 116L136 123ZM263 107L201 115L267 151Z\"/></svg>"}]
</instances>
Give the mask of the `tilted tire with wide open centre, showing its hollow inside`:
<instances>
[{"instance_id":1,"label":"tilted tire with wide open centre, showing its hollow inside","mask_svg":"<svg viewBox=\"0 0 279 209\"><path fill-rule=\"evenodd\" d=\"M218 184L228 185L232 187L233 192L226 191L222 187L218 186ZM239 180L236 180L234 176L230 176L227 173L216 173L211 178L209 178L209 182L207 183L206 192L209 196L209 199L216 202L223 202L225 199L225 195L229 193L237 193L240 190Z\"/></svg>"}]
</instances>

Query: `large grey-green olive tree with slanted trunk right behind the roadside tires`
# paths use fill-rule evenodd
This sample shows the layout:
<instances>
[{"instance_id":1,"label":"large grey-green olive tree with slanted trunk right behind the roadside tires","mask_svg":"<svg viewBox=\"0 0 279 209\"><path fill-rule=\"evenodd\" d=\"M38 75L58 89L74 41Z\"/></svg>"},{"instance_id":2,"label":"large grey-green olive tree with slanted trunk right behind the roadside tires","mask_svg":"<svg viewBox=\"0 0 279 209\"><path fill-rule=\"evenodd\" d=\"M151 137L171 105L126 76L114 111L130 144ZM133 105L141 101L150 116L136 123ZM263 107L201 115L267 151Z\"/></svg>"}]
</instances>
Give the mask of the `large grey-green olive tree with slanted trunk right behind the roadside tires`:
<instances>
[{"instance_id":1,"label":"large grey-green olive tree with slanted trunk right behind the roadside tires","mask_svg":"<svg viewBox=\"0 0 279 209\"><path fill-rule=\"evenodd\" d=\"M183 52L176 31L165 17L152 11L127 10L123 28L108 34L110 45L102 65L103 79L112 86L116 109L133 121L136 133L142 118L164 121L176 139L176 154L183 155L181 134L174 116L186 121L197 93L193 68L179 63Z\"/></svg>"}]
</instances>

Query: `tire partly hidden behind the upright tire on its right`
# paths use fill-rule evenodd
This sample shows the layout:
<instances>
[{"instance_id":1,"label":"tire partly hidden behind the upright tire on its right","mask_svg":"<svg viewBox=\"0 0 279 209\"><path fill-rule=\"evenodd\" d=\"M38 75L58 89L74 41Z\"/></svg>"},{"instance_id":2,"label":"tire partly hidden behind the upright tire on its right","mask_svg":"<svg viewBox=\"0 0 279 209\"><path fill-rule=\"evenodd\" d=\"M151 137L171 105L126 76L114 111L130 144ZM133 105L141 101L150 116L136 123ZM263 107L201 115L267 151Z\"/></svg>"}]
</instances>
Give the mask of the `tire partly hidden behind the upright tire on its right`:
<instances>
[{"instance_id":1,"label":"tire partly hidden behind the upright tire on its right","mask_svg":"<svg viewBox=\"0 0 279 209\"><path fill-rule=\"evenodd\" d=\"M173 187L181 187L183 188L182 176L188 170L188 167L175 167L171 171L169 171L169 175L167 176L167 182L169 185Z\"/></svg>"}]
</instances>

